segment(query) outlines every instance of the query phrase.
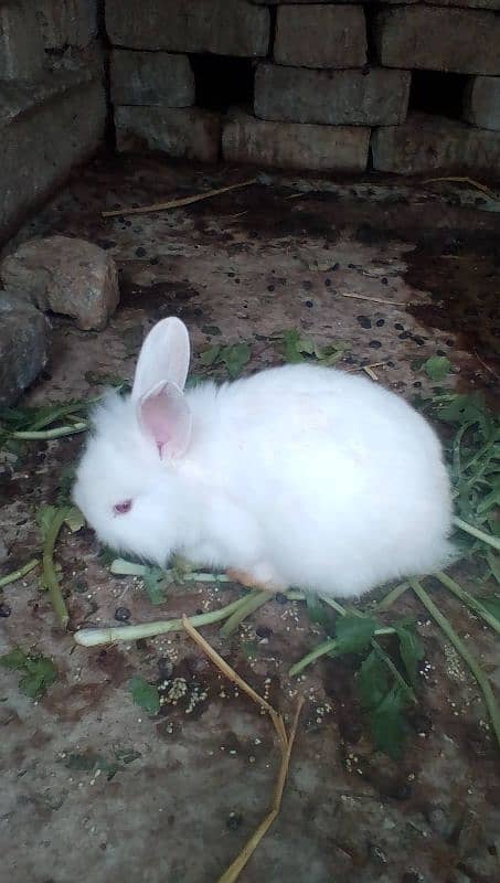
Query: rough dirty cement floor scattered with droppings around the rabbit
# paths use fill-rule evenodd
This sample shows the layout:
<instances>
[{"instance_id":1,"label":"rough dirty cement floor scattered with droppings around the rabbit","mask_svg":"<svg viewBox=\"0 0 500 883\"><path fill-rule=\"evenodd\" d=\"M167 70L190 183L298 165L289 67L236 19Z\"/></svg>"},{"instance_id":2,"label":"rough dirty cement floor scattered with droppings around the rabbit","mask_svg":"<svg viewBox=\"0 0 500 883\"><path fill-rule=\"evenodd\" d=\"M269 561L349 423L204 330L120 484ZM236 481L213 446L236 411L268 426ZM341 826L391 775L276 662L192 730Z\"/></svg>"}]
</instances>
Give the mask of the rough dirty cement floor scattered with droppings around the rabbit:
<instances>
[{"instance_id":1,"label":"rough dirty cement floor scattered with droppings around the rabbit","mask_svg":"<svg viewBox=\"0 0 500 883\"><path fill-rule=\"evenodd\" d=\"M98 392L88 372L131 376L149 325L170 313L190 326L196 354L210 342L252 343L248 370L279 363L270 337L300 327L319 342L344 340L341 368L383 363L379 381L411 396L426 389L415 360L447 354L448 384L485 389L499 375L498 248L494 202L373 179L323 184L278 179L187 210L104 221L115 205L143 204L243 180L237 169L172 167L155 158L98 160L73 181L19 240L86 236L118 262L123 302L103 333L54 318L50 374L30 401ZM448 194L448 195L447 195ZM478 204L475 200L478 198ZM361 300L348 295L363 295ZM389 301L389 302L385 302ZM408 304L418 304L408 307ZM415 365L414 365L415 366ZM200 371L199 371L200 373ZM0 465L2 572L33 554L34 509L53 502L62 468L82 438L32 445ZM87 530L57 546L71 626L173 617L233 599L237 586L172 587L152 607L140 585L97 557ZM475 591L470 568L460 581ZM458 603L436 589L500 687L498 645ZM215 883L266 812L278 765L267 719L222 681L182 635L86 650L61 635L36 576L6 588L12 608L1 646L52 656L60 677L33 704L2 671L0 688L0 854L10 883ZM204 634L258 691L299 724L281 813L242 874L242 883L488 883L499 874L498 755L478 691L412 597L398 614L418 616L432 668L406 751L397 763L373 754L352 682L352 666L323 660L302 680L287 669L321 638L304 605L267 604L231 646ZM390 618L390 617L389 617ZM155 681L173 664L208 696L149 719L128 680ZM78 768L86 753L109 763L109 780Z\"/></svg>"}]
</instances>

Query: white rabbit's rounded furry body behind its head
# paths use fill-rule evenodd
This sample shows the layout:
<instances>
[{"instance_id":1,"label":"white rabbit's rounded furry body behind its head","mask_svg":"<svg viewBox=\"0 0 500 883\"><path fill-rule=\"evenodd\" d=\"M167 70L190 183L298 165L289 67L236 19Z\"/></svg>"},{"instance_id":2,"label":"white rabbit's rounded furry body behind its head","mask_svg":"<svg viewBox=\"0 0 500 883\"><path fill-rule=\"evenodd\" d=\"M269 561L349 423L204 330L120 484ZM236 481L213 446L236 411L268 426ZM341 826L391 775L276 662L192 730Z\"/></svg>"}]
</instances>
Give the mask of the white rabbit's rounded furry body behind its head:
<instances>
[{"instance_id":1,"label":"white rabbit's rounded furry body behind its head","mask_svg":"<svg viewBox=\"0 0 500 883\"><path fill-rule=\"evenodd\" d=\"M313 365L189 397L200 457L265 526L288 582L357 594L444 563L451 503L440 446L401 397Z\"/></svg>"}]
</instances>

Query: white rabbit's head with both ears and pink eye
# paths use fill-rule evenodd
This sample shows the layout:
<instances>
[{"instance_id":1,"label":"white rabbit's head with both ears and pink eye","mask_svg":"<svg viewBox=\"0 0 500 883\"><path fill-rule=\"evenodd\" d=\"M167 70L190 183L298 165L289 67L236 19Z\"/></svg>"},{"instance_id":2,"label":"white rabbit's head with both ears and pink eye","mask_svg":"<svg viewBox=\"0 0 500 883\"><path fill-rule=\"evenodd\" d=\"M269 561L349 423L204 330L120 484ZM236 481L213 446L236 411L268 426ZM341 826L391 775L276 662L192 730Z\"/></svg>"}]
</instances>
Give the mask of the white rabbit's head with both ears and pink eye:
<instances>
[{"instance_id":1,"label":"white rabbit's head with both ears and pink eye","mask_svg":"<svg viewBox=\"0 0 500 883\"><path fill-rule=\"evenodd\" d=\"M142 344L131 394L111 392L95 409L73 490L102 542L159 564L183 520L177 465L191 438L183 395L189 359L185 326L175 318L158 322Z\"/></svg>"}]
</instances>

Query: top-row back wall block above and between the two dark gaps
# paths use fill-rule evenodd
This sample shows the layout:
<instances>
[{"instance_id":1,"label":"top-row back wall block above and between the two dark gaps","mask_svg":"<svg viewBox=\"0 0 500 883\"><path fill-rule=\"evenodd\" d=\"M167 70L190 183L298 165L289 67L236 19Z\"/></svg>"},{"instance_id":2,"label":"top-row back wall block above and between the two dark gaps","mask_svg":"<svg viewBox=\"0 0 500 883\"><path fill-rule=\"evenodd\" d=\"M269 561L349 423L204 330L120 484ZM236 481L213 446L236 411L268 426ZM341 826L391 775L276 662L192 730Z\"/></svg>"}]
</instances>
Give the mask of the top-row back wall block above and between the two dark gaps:
<instances>
[{"instance_id":1,"label":"top-row back wall block above and between the two dark gaps","mask_svg":"<svg viewBox=\"0 0 500 883\"><path fill-rule=\"evenodd\" d=\"M362 67L366 22L362 7L279 7L274 57L299 67Z\"/></svg>"}]
</instances>

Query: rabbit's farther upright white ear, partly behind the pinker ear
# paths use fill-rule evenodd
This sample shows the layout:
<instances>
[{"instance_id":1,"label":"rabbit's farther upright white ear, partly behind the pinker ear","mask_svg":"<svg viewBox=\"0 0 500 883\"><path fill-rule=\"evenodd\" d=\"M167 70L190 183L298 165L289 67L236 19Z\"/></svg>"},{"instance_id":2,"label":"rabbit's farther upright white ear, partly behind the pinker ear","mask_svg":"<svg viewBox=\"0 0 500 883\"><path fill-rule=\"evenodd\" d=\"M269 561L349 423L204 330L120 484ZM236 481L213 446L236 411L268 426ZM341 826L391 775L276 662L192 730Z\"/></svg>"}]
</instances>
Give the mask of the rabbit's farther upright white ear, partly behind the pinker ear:
<instances>
[{"instance_id":1,"label":"rabbit's farther upright white ear, partly behind the pinker ear","mask_svg":"<svg viewBox=\"0 0 500 883\"><path fill-rule=\"evenodd\" d=\"M160 382L184 389L189 369L189 334L175 317L162 319L147 336L139 353L134 379L132 398L138 401Z\"/></svg>"}]
</instances>

